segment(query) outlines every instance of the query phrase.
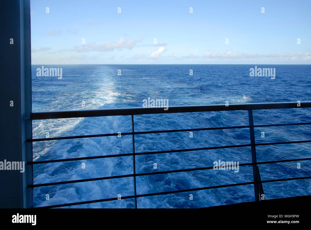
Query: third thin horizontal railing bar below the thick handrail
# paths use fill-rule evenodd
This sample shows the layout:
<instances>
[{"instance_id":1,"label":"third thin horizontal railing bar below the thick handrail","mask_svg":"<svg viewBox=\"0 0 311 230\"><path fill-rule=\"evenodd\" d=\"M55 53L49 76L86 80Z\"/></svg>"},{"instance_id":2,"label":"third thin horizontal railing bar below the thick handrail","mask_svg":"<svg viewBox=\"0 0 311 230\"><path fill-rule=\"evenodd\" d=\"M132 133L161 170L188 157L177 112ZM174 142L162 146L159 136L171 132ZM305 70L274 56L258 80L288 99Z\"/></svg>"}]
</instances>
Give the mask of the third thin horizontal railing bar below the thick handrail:
<instances>
[{"instance_id":1,"label":"third thin horizontal railing bar below the thick handrail","mask_svg":"<svg viewBox=\"0 0 311 230\"><path fill-rule=\"evenodd\" d=\"M290 162L290 161L308 161L311 158L300 158L300 159L290 159L290 160L279 160L279 161L265 161L265 162L257 162L258 164L271 164L271 163L280 163L280 162ZM245 163L239 164L239 166L246 166L246 165L253 165L253 163ZM225 165L225 168L229 167L229 165ZM188 172L188 171L197 171L197 170L207 170L213 169L214 166L210 167L201 167L201 168L192 168L192 169L178 169L178 170L168 170L168 171L159 171L159 172L149 172L149 173L137 173L137 174L128 174L128 175L119 175L119 176L108 176L108 177L99 177L99 178L91 178L91 179L82 179L82 180L70 180L70 181L61 181L61 182L52 182L52 183L45 183L45 184L33 184L28 185L28 188L33 187L43 187L43 186L50 186L50 185L57 185L57 184L70 184L70 183L79 183L79 182L87 182L87 181L94 181L94 180L108 180L108 179L116 179L116 178L124 178L124 177L131 177L131 176L146 176L146 175L158 175L158 174L166 174L166 173L176 173L176 172ZM217 166L216 168L220 169L221 166Z\"/></svg>"}]
</instances>

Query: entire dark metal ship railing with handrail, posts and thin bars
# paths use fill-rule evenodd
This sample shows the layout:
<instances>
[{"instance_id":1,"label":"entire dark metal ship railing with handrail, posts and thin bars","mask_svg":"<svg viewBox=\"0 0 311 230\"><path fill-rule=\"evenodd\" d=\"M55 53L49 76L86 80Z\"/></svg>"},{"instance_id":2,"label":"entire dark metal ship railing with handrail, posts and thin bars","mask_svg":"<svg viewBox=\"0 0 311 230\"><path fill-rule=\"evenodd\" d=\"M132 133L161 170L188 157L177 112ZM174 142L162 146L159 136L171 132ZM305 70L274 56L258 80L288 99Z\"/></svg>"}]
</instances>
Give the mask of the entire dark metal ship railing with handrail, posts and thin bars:
<instances>
[{"instance_id":1,"label":"entire dark metal ship railing with handrail, posts and thin bars","mask_svg":"<svg viewBox=\"0 0 311 230\"><path fill-rule=\"evenodd\" d=\"M295 177L295 178L285 178L285 179L262 181L260 179L259 169L258 169L257 165L280 163L280 162L289 162L289 161L307 161L307 160L311 160L311 158L257 162L256 146L306 143L306 142L311 142L311 140L258 143L258 144L256 144L255 143L255 136L254 136L254 128L255 127L290 126L290 125L310 125L311 122L272 124L272 125L254 125L253 124L253 110L258 110L258 109L285 109L285 108L299 109L299 108L310 108L310 107L311 107L311 102L301 102L299 107L297 106L297 103L295 103L295 102L286 102L286 103L230 104L230 106L225 106L225 105L175 106L175 107L169 107L168 110L164 110L163 108L120 108L120 109L103 109L103 110L83 110L83 111L82 110L75 110L75 111L61 111L61 112L31 113L30 114L30 120L31 121L32 120L41 120L41 119L56 119L56 118L100 117L100 116L120 116L120 115L128 116L128 115L130 115L132 118L132 132L122 133L122 135L132 135L132 153L113 154L113 155L105 155L105 156L78 157L78 158L57 159L57 160L47 160L47 161L29 161L29 162L27 162L27 165L31 166L31 168L32 168L32 166L35 164L45 164L45 163L52 163L52 162L65 162L65 161L79 161L79 160L100 159L100 158L121 157L121 156L133 156L133 173L128 174L128 175L117 175L117 176L90 178L90 179L83 179L83 180L70 180L70 181L44 183L44 184L33 184L33 182L32 182L31 184L27 185L27 188L32 190L35 187L50 186L50 185L57 185L57 184L70 184L70 183L78 183L78 182L86 182L86 181L108 180L108 179L116 179L116 178L133 177L134 195L124 196L124 197L122 197L122 199L134 198L135 199L135 208L137 208L137 198L139 198L139 197L155 196L155 195L163 195L163 194L173 194L173 193L181 193L181 192L190 192L190 191L198 191L198 190L204 190L204 189L223 188L223 187L248 185L248 184L254 184L255 201L259 201L260 196L262 194L264 194L263 189L262 189L262 183L286 181L286 180L311 179L311 177ZM231 126L231 127L197 128L197 129L159 130L159 131L146 131L146 132L135 132L134 131L134 115L158 114L158 113L191 113L191 112L211 112L211 111L232 111L232 110L247 110L248 111L249 125L247 125L247 126ZM214 147L179 149L179 150L168 150L168 151L135 152L134 137L137 134L219 130L219 129L239 129L239 128L249 128L250 144L230 145L230 146L214 146ZM82 136L71 136L71 137L52 137L52 138L40 138L40 139L32 139L31 138L31 139L27 139L26 141L32 143L34 141L49 141L49 140L74 139L74 138L88 138L88 137L108 137L108 136L117 136L117 135L118 135L118 133L110 133L110 134L82 135ZM251 147L252 162L251 163L245 163L245 164L239 164L239 166L245 166L245 165L252 165L253 166L253 181L249 181L249 182L245 182L245 183L225 184L225 185L218 185L218 186L193 188L193 189L182 189L182 190L174 190L174 191L166 191L166 192L157 192L157 193L150 193L150 194L139 194L139 195L137 195L137 193L136 193L136 177L146 176L146 175L168 174L168 173L176 173L176 172L189 172L189 171L196 171L196 170L207 170L207 169L213 169L213 166L201 167L201 168L191 168L191 169L181 169L181 170L136 173L135 156L149 155L149 154L160 154L160 153L172 153L172 152L184 152L184 151L199 151L199 150L208 150L208 149L236 148L236 147L246 147L246 146ZM220 168L220 165L218 167ZM228 166L226 166L226 167L228 167ZM75 202L75 203L69 203L69 204L58 204L58 205L51 205L51 206L45 206L45 207L46 208L57 208L57 207L65 207L65 206L72 206L72 205L90 204L90 203L96 203L96 202L111 201L111 200L117 200L117 199L118 199L117 197L113 197L113 198L108 198L108 199L98 199L98 200Z\"/></svg>"}]
</instances>

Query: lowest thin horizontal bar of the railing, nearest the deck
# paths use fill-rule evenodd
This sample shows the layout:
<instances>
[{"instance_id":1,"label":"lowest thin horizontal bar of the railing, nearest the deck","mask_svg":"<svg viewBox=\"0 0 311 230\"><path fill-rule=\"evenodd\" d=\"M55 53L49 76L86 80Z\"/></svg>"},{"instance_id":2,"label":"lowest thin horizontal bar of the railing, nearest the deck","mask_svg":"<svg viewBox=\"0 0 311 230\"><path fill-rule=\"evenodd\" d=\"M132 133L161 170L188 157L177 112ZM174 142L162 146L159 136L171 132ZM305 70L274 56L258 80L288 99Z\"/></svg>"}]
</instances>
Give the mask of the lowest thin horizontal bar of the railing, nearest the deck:
<instances>
[{"instance_id":1,"label":"lowest thin horizontal bar of the railing, nearest the deck","mask_svg":"<svg viewBox=\"0 0 311 230\"><path fill-rule=\"evenodd\" d=\"M311 179L311 176L295 177L295 178L288 178L288 179L277 179L277 180L264 180L261 182L267 183L267 182L277 182L277 181L285 181L285 180L303 180L303 179ZM195 189L182 189L182 190L176 190L176 191L141 194L141 195L136 195L136 196L124 196L124 197L122 197L122 199L130 199L130 198L135 198L135 197L138 198L138 197L146 197L146 196L156 196L156 195L173 194L173 193L182 193L182 192L191 192L191 191L199 191L199 190L205 190L205 189L225 188L225 187L241 186L241 185L248 185L248 184L254 184L254 182L252 181L252 182L245 182L245 183L238 183L238 184L225 184L225 185L202 187L202 188L195 188ZM98 203L98 202L111 201L111 200L118 200L118 198L114 197L114 198L108 198L108 199L82 201L82 202L75 202L75 203L69 203L69 204L50 205L50 206L37 207L37 208L58 208L58 207L66 207L66 206L72 206L72 205Z\"/></svg>"}]
</instances>

